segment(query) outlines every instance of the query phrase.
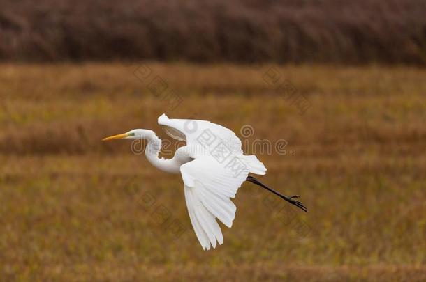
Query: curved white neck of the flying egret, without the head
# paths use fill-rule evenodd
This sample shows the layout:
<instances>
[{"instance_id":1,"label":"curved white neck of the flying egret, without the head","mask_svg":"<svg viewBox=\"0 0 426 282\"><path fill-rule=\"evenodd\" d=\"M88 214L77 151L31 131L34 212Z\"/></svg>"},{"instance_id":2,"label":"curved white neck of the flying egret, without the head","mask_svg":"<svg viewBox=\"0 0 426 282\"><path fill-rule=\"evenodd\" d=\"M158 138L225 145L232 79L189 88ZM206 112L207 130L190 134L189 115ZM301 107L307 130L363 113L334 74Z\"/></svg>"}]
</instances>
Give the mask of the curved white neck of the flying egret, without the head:
<instances>
[{"instance_id":1,"label":"curved white neck of the flying egret, without the head","mask_svg":"<svg viewBox=\"0 0 426 282\"><path fill-rule=\"evenodd\" d=\"M175 164L173 159L164 159L159 157L161 150L161 139L156 136L154 132L146 137L148 141L147 148L145 148L145 155L148 161L161 171L167 171L169 173L179 173L180 165Z\"/></svg>"}]
</instances>

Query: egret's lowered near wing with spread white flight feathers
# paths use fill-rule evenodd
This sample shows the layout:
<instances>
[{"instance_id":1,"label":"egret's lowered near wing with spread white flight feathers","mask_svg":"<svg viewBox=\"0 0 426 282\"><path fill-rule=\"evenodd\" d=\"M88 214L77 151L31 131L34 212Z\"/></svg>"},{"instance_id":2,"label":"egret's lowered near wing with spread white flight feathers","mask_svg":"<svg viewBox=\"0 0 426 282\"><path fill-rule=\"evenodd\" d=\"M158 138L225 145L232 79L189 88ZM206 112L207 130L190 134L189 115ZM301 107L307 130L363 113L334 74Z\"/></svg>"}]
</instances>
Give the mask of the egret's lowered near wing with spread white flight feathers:
<instances>
[{"instance_id":1,"label":"egret's lowered near wing with spread white flight feathers","mask_svg":"<svg viewBox=\"0 0 426 282\"><path fill-rule=\"evenodd\" d=\"M203 249L223 243L223 235L216 218L228 227L235 219L234 198L249 171L235 171L219 163L212 156L203 156L180 167L185 186L189 218Z\"/></svg>"}]
</instances>

